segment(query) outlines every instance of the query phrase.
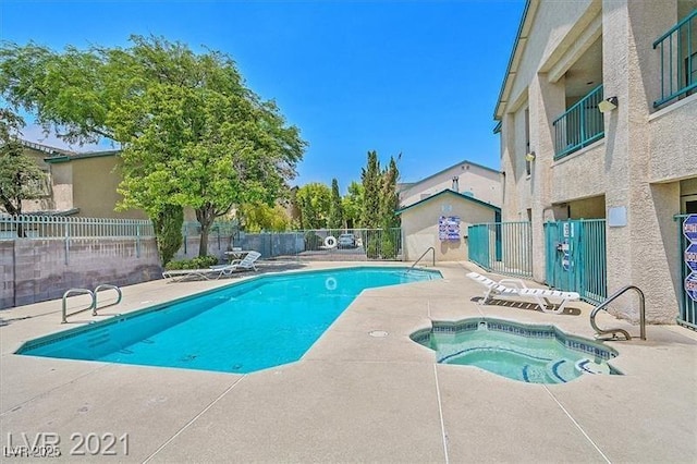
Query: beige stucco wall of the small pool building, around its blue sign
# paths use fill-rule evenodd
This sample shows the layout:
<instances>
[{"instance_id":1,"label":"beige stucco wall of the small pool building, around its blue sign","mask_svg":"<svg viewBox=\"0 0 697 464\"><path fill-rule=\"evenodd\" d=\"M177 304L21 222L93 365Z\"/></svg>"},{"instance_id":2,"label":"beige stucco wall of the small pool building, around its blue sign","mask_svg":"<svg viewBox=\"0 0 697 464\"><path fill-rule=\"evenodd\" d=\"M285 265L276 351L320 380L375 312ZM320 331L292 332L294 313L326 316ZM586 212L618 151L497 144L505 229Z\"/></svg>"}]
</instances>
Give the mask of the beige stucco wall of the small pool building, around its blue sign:
<instances>
[{"instance_id":1,"label":"beige stucco wall of the small pool building, around its blue sign","mask_svg":"<svg viewBox=\"0 0 697 464\"><path fill-rule=\"evenodd\" d=\"M460 217L460 241L441 242L438 239L438 220L441 216ZM404 260L417 259L430 246L436 249L437 261L466 260L468 256L467 227L481 222L493 222L493 209L454 194L444 194L416 205L402 213Z\"/></svg>"}]
</instances>

